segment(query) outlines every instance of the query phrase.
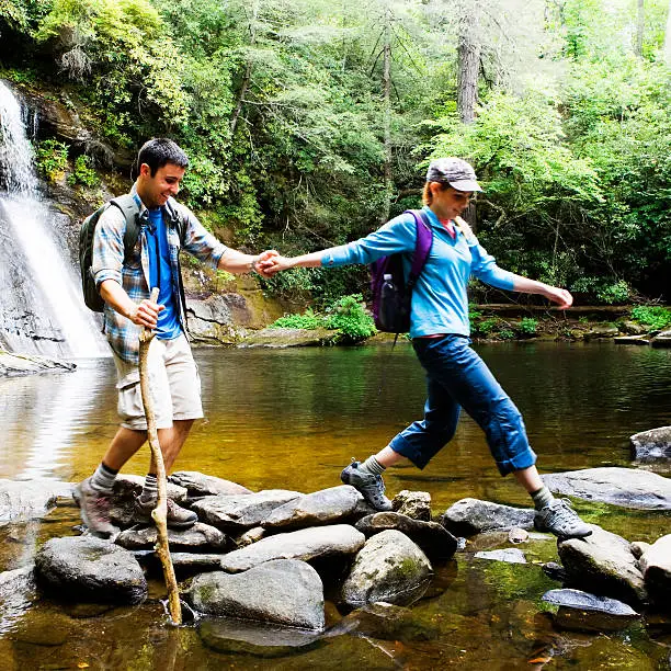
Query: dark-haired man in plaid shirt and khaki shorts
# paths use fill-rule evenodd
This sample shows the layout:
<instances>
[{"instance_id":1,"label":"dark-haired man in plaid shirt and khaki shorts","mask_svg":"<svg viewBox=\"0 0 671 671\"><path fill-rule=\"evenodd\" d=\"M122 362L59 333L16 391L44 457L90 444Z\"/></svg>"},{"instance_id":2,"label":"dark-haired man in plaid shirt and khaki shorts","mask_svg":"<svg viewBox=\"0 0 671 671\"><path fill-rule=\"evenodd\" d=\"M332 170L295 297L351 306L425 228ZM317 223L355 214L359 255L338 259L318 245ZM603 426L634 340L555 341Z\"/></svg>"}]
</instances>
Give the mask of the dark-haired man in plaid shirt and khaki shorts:
<instances>
[{"instance_id":1,"label":"dark-haired man in plaid shirt and khaki shorts","mask_svg":"<svg viewBox=\"0 0 671 671\"><path fill-rule=\"evenodd\" d=\"M172 140L155 138L137 157L138 177L130 195L139 212L140 231L125 258L125 215L107 207L100 217L93 242L92 272L105 302L104 330L116 364L121 428L95 473L78 486L81 516L90 532L109 538L118 530L110 522L110 496L124 464L147 440L147 422L139 389L138 336L143 327L156 329L149 349L149 377L158 437L166 470L172 467L193 422L203 417L201 383L185 337L181 300L180 248L212 268L230 273L263 274L273 252L243 254L207 232L191 211L174 197L189 166L184 151ZM150 288L159 287L152 303ZM150 521L157 500L153 459L136 500L139 521ZM187 528L197 521L192 511L168 500L168 525Z\"/></svg>"}]
</instances>

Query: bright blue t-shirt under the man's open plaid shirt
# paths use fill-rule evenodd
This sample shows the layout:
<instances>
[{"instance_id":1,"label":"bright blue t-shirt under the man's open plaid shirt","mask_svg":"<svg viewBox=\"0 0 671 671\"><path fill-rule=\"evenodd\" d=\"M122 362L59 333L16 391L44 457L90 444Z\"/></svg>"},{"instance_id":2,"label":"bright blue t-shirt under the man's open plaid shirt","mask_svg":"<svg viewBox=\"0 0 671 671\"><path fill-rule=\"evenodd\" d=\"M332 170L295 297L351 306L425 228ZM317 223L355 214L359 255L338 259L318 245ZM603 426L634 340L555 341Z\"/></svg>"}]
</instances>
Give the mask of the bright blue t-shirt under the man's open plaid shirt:
<instances>
[{"instance_id":1,"label":"bright blue t-shirt under the man's open plaid shirt","mask_svg":"<svg viewBox=\"0 0 671 671\"><path fill-rule=\"evenodd\" d=\"M178 317L178 306L172 286L172 271L170 266L170 248L168 247L168 231L163 220L163 209L148 209L149 226L147 226L147 251L149 252L149 283L150 287L159 287L159 305L166 309L159 312L156 337L159 340L172 340L182 332ZM158 263L157 263L158 261Z\"/></svg>"}]
</instances>

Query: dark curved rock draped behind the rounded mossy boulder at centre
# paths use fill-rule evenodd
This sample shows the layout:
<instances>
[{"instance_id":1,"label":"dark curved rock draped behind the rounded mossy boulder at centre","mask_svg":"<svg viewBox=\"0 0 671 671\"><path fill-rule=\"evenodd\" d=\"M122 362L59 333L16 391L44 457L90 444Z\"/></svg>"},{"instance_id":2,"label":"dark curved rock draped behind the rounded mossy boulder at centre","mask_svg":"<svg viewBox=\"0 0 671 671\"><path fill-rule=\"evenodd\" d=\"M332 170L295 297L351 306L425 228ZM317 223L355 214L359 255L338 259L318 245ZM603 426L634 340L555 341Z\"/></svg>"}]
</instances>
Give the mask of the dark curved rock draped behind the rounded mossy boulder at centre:
<instances>
[{"instance_id":1,"label":"dark curved rock draped behind the rounded mossy boulder at centre","mask_svg":"<svg viewBox=\"0 0 671 671\"><path fill-rule=\"evenodd\" d=\"M457 549L457 539L437 522L422 522L397 512L378 512L367 515L354 526L366 538L394 528L406 534L427 555L436 559L451 559Z\"/></svg>"}]
</instances>

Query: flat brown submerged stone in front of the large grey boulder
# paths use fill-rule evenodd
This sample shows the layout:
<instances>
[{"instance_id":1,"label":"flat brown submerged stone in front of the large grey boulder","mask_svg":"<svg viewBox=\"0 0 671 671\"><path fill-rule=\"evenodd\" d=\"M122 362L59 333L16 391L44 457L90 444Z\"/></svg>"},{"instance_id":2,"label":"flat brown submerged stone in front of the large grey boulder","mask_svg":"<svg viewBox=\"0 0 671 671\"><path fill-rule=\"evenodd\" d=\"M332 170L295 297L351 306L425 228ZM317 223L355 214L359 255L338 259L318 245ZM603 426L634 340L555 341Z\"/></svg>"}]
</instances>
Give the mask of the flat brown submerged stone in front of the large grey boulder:
<instances>
[{"instance_id":1,"label":"flat brown submerged stone in front of the large grey boulder","mask_svg":"<svg viewBox=\"0 0 671 671\"><path fill-rule=\"evenodd\" d=\"M232 618L206 619L198 626L198 635L217 652L264 659L306 652L315 649L320 640L314 632Z\"/></svg>"}]
</instances>

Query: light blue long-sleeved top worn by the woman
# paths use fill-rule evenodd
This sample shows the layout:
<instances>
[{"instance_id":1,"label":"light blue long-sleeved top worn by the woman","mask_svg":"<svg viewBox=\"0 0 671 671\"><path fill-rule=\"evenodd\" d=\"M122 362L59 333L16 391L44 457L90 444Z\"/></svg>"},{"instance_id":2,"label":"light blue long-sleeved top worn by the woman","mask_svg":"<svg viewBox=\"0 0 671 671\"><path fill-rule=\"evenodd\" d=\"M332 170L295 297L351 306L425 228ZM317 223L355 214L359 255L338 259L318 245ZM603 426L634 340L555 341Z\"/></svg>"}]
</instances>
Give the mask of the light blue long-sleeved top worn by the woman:
<instances>
[{"instance_id":1,"label":"light blue long-sleeved top worn by the woman","mask_svg":"<svg viewBox=\"0 0 671 671\"><path fill-rule=\"evenodd\" d=\"M512 289L513 275L500 269L474 237L455 238L443 228L435 214L424 207L433 230L433 247L427 265L412 292L410 337L436 333L470 334L466 286L473 275L498 288ZM403 254L406 275L414 252L417 230L411 214L402 214L365 238L336 247L321 257L321 264L336 268L349 263L372 263L380 257Z\"/></svg>"}]
</instances>

